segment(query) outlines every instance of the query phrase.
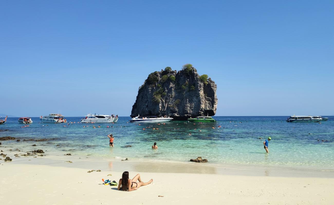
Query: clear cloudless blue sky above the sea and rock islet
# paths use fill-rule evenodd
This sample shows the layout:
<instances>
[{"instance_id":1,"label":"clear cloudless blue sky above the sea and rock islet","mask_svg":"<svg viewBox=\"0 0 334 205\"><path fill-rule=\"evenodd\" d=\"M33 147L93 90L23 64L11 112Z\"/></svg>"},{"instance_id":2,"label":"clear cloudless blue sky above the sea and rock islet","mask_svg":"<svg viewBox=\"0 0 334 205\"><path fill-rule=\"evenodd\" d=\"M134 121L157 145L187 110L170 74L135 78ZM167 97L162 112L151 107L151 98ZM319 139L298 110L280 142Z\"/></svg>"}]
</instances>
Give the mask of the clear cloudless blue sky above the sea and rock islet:
<instances>
[{"instance_id":1,"label":"clear cloudless blue sky above the sea and rock islet","mask_svg":"<svg viewBox=\"0 0 334 205\"><path fill-rule=\"evenodd\" d=\"M218 116L334 114L333 1L1 1L0 113L129 116L191 63Z\"/></svg>"}]
</instances>

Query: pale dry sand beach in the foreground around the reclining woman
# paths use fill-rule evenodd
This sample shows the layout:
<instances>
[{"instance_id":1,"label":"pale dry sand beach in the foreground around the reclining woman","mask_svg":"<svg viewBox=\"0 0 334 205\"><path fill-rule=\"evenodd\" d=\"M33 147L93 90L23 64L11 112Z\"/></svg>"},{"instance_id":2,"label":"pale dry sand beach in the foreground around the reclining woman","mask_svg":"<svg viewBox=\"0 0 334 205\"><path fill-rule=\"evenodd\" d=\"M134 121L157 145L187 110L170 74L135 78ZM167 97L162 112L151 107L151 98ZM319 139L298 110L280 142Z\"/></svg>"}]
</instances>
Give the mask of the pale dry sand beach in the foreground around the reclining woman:
<instances>
[{"instance_id":1,"label":"pale dry sand beach in the foreground around the reclining woman","mask_svg":"<svg viewBox=\"0 0 334 205\"><path fill-rule=\"evenodd\" d=\"M143 181L153 178L152 184L124 192L103 185L102 178L118 182L122 171L111 171L115 166L132 178L136 163L109 163L101 172L88 173L75 161L28 160L0 161L1 204L334 204L334 178L163 173L152 167L140 172ZM92 162L85 167L99 169Z\"/></svg>"}]
</instances>

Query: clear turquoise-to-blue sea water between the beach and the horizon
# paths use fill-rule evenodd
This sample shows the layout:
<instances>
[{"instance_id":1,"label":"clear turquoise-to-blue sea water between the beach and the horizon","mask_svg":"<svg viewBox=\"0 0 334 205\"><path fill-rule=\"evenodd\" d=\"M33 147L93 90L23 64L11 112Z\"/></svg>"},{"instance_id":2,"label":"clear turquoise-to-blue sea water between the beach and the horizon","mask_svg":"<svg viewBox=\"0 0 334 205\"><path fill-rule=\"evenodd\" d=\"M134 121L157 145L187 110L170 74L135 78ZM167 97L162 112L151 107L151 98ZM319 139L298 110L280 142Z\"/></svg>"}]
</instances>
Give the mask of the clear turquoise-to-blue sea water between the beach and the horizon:
<instances>
[{"instance_id":1,"label":"clear turquoise-to-blue sea water between the beach and the horizon","mask_svg":"<svg viewBox=\"0 0 334 205\"><path fill-rule=\"evenodd\" d=\"M68 122L76 122L69 125L40 123L39 118L32 118L33 123L24 128L17 123L18 118L8 118L5 124L0 125L0 129L9 131L0 132L0 137L21 139L21 142L2 141L2 146L30 148L31 144L36 144L48 151L59 151L62 154L110 159L127 157L131 160L188 162L191 158L202 156L211 164L305 166L333 171L334 117L328 117L329 120L322 121L321 124L288 123L285 116L256 116L214 117L217 122L202 124L171 121L166 125L138 125L128 122L130 117L120 117L115 124L81 124L77 123L81 117L66 117ZM83 128L84 125L89 127ZM93 125L102 127L94 129ZM107 128L108 125L114 127ZM151 128L146 128L148 126ZM159 129L153 130L153 127ZM191 136L188 135L189 132ZM107 135L110 133L115 137L113 148L109 147ZM268 136L272 137L269 154L263 148L263 141ZM43 138L56 139L45 142L23 141ZM157 142L158 150L151 149L154 142ZM123 148L126 145L132 147Z\"/></svg>"}]
</instances>

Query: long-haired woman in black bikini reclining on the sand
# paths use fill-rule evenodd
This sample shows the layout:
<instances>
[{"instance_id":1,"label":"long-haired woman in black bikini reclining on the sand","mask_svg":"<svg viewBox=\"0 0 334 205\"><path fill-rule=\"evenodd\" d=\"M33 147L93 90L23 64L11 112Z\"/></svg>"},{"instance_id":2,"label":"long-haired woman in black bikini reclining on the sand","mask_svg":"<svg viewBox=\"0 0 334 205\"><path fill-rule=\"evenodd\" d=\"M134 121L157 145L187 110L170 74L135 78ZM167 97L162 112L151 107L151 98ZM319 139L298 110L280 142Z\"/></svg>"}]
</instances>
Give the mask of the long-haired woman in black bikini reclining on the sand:
<instances>
[{"instance_id":1,"label":"long-haired woman in black bikini reclining on the sand","mask_svg":"<svg viewBox=\"0 0 334 205\"><path fill-rule=\"evenodd\" d=\"M139 181L137 183L137 180ZM118 190L122 190L122 191L133 191L133 190L137 190L139 187L141 186L146 186L148 184L151 184L153 182L153 179L151 179L148 182L142 182L141 178L140 178L140 174L137 174L132 180L129 179L129 172L123 172L122 174L122 179L120 179L119 183L118 183ZM122 187L121 187L122 185Z\"/></svg>"}]
</instances>

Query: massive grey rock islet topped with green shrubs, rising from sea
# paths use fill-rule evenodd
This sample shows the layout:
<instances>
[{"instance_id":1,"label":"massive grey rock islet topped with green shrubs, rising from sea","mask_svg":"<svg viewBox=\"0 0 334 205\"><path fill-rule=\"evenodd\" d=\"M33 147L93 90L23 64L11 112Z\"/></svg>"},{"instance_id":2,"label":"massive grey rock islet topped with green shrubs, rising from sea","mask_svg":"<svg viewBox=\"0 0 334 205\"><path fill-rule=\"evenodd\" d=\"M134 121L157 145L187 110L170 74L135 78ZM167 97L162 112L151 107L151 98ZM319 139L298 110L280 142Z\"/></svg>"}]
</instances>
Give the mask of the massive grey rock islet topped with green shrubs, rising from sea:
<instances>
[{"instance_id":1,"label":"massive grey rock islet topped with green shrubs, rising from sea","mask_svg":"<svg viewBox=\"0 0 334 205\"><path fill-rule=\"evenodd\" d=\"M180 71L170 67L151 73L139 88L131 117L168 115L176 120L213 116L217 109L217 85L199 76L191 64Z\"/></svg>"}]
</instances>

